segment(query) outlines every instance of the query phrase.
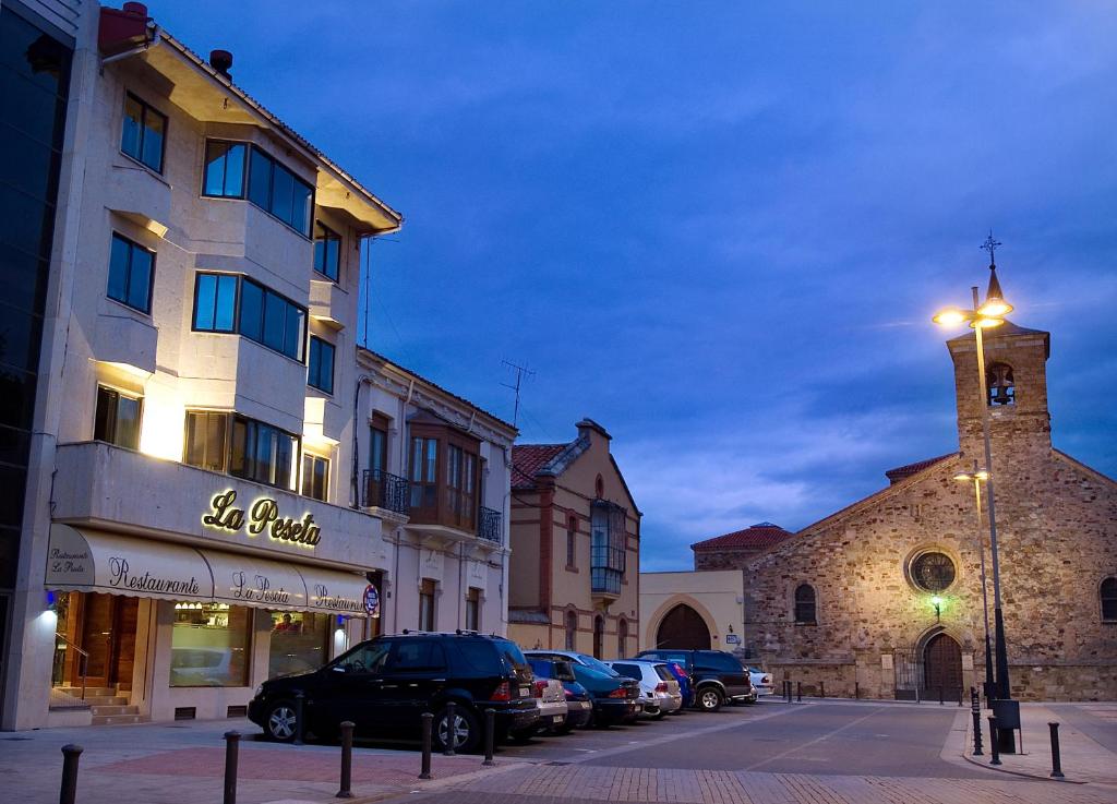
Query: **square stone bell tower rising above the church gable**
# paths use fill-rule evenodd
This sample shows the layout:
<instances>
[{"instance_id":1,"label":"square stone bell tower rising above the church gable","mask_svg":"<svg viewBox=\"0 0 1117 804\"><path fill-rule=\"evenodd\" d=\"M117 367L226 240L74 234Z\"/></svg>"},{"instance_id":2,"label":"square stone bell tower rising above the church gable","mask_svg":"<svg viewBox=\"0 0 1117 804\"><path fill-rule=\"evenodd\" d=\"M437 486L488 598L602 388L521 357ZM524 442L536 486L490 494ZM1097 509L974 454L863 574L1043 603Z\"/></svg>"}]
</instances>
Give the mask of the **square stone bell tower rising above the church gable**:
<instances>
[{"instance_id":1,"label":"square stone bell tower rising above the church gable","mask_svg":"<svg viewBox=\"0 0 1117 804\"><path fill-rule=\"evenodd\" d=\"M1003 298L991 262L986 298ZM1047 399L1047 358L1050 334L1016 326L1008 318L982 329L985 389L977 374L977 339L973 332L947 341L954 361L958 411L958 447L966 458L984 461L982 408L990 417L993 452L1010 458L1032 448L1051 449L1051 417ZM1011 458L1010 458L1011 459Z\"/></svg>"}]
</instances>

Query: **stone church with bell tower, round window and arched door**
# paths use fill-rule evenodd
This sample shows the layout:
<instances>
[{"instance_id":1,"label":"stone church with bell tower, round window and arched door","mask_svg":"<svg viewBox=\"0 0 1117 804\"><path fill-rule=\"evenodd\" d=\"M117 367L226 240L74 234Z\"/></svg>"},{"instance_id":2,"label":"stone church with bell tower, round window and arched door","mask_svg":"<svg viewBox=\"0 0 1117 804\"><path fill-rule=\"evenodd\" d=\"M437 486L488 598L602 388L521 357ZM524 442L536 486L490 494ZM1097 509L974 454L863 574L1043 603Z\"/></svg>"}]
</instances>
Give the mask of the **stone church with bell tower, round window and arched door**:
<instances>
[{"instance_id":1,"label":"stone church with bell tower, round window and arched door","mask_svg":"<svg viewBox=\"0 0 1117 804\"><path fill-rule=\"evenodd\" d=\"M989 510L982 484L978 528L974 482L956 476L984 465L985 404L1013 696L1117 699L1117 484L1051 444L1049 333L1005 322L984 338L985 400L973 333L947 342L957 451L889 471L887 488L737 564L742 652L777 686L955 700L981 687ZM989 606L992 623L991 583Z\"/></svg>"}]
</instances>

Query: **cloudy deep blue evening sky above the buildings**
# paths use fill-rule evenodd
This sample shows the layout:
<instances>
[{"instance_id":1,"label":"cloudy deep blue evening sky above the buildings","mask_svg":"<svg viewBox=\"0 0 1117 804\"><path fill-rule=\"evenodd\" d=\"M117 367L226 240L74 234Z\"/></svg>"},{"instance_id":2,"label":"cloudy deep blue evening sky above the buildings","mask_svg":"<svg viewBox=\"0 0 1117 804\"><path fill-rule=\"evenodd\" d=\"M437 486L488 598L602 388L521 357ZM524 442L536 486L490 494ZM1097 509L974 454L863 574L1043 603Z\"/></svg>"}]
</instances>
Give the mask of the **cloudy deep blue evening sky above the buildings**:
<instances>
[{"instance_id":1,"label":"cloudy deep blue evening sky above the buildings","mask_svg":"<svg viewBox=\"0 0 1117 804\"><path fill-rule=\"evenodd\" d=\"M930 324L1049 329L1056 446L1117 475L1117 6L151 3L392 207L370 345L560 442L589 415L645 570L801 528L956 448Z\"/></svg>"}]
</instances>

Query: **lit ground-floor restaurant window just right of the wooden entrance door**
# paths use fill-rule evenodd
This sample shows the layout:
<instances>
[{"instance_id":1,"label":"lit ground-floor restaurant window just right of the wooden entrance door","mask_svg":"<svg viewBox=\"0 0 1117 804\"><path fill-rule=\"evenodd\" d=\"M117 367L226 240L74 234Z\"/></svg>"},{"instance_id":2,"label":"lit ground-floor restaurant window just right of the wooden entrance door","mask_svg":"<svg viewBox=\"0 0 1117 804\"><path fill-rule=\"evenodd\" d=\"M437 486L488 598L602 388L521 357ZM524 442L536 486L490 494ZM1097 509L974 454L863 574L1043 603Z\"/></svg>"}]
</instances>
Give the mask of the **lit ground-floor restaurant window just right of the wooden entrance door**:
<instances>
[{"instance_id":1,"label":"lit ground-floor restaurant window just right of the wooden entrance door","mask_svg":"<svg viewBox=\"0 0 1117 804\"><path fill-rule=\"evenodd\" d=\"M247 687L252 610L175 603L171 687Z\"/></svg>"}]
</instances>

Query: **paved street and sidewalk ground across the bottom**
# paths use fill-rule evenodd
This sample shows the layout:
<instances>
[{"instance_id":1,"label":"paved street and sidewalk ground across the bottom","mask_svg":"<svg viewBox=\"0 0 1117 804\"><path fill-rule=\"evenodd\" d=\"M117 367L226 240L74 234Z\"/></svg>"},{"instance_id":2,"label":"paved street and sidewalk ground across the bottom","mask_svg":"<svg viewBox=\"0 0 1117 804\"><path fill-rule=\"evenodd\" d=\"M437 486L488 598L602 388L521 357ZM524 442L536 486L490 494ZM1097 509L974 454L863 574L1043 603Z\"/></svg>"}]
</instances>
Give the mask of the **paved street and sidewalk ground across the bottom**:
<instances>
[{"instance_id":1,"label":"paved street and sidewalk ground across the bottom","mask_svg":"<svg viewBox=\"0 0 1117 804\"><path fill-rule=\"evenodd\" d=\"M1092 706L1092 708L1091 708ZM1044 717L1048 710L1042 710ZM1095 778L1114 756L1113 705L1053 706L1089 746ZM715 715L544 737L505 746L496 768L475 756L435 757L433 783L419 783L413 747L362 744L353 786L370 800L429 804L560 804L562 801L694 804L1047 804L1117 802L1115 784L1066 784L989 769L963 758L966 711L869 701L764 701ZM1073 729L1070 728L1073 724ZM246 721L151 724L0 735L0 784L11 801L57 800L59 747L85 746L79 804L213 804L220 801L221 734L245 733L240 804L326 802L337 789L338 749L256 739ZM1037 729L1039 730L1039 729ZM1042 735L1030 734L1032 743ZM1086 743L1086 741L1088 743Z\"/></svg>"}]
</instances>

